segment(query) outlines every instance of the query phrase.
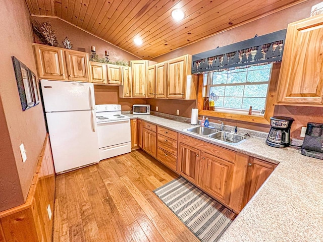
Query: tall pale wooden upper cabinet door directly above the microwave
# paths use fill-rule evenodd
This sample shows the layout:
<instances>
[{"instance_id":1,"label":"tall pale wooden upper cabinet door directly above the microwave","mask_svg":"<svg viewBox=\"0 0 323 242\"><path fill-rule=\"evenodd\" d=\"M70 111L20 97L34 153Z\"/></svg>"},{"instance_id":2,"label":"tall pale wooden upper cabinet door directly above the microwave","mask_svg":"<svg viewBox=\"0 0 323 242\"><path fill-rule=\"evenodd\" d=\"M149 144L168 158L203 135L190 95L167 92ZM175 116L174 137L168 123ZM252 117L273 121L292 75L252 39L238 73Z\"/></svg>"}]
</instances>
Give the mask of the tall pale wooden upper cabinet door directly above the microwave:
<instances>
[{"instance_id":1,"label":"tall pale wooden upper cabinet door directly above the microwave","mask_svg":"<svg viewBox=\"0 0 323 242\"><path fill-rule=\"evenodd\" d=\"M131 61L132 97L146 97L147 61Z\"/></svg>"}]
</instances>

